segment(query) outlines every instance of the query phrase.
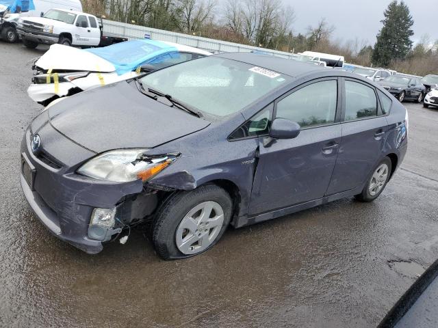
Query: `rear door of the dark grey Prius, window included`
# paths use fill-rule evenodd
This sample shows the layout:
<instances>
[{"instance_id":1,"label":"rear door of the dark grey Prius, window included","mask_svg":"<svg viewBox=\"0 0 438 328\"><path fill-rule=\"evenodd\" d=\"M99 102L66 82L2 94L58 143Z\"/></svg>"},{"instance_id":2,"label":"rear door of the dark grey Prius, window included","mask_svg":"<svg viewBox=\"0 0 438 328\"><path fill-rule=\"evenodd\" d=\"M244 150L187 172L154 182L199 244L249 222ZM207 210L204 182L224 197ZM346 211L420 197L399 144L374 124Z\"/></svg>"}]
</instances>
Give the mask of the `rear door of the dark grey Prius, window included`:
<instances>
[{"instance_id":1,"label":"rear door of the dark grey Prius, window included","mask_svg":"<svg viewBox=\"0 0 438 328\"><path fill-rule=\"evenodd\" d=\"M355 189L381 158L387 120L372 85L344 79L342 141L327 195Z\"/></svg>"}]
</instances>

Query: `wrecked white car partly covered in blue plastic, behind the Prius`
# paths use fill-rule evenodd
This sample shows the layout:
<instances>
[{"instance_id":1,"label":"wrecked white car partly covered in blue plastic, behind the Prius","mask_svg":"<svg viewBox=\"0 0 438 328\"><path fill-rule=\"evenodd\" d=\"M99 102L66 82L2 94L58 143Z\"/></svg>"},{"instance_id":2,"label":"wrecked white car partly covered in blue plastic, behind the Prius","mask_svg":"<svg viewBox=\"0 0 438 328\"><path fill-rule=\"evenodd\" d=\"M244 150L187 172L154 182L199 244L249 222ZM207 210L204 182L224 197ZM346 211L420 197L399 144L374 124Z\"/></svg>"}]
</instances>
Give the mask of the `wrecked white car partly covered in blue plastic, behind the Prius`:
<instances>
[{"instance_id":1,"label":"wrecked white car partly covered in blue plastic, behind the Prius","mask_svg":"<svg viewBox=\"0 0 438 328\"><path fill-rule=\"evenodd\" d=\"M142 72L211 55L172 42L131 40L95 49L53 44L34 64L29 97L47 106L53 100L136 77Z\"/></svg>"}]
</instances>

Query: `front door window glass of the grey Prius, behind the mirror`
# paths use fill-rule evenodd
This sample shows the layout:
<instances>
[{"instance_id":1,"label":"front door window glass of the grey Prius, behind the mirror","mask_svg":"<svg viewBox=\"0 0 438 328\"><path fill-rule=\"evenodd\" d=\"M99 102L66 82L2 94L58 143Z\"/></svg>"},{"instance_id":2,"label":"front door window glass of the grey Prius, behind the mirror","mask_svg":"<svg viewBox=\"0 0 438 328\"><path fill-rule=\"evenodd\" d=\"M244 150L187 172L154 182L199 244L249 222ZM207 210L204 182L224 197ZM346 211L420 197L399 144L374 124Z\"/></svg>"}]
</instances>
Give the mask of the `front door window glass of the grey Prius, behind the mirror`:
<instances>
[{"instance_id":1,"label":"front door window glass of the grey Prius, behind the mirror","mask_svg":"<svg viewBox=\"0 0 438 328\"><path fill-rule=\"evenodd\" d=\"M337 81L321 81L302 87L280 100L276 117L300 124L301 127L335 122Z\"/></svg>"}]
</instances>

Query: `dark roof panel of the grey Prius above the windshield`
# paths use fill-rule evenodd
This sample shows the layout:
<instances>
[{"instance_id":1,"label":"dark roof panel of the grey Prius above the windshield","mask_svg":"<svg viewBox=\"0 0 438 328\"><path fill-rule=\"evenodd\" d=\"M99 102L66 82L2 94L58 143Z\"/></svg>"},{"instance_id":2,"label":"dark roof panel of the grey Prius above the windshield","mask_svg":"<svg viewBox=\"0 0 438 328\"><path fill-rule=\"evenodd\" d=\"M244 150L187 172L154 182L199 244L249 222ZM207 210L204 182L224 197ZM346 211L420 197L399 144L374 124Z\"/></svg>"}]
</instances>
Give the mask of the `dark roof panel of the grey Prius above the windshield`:
<instances>
[{"instance_id":1,"label":"dark roof panel of the grey Prius above the windshield","mask_svg":"<svg viewBox=\"0 0 438 328\"><path fill-rule=\"evenodd\" d=\"M257 53L221 53L216 56L267 68L274 72L289 75L289 77L298 77L303 74L309 74L310 72L324 72L327 70L325 67L308 64L305 61L296 61Z\"/></svg>"}]
</instances>

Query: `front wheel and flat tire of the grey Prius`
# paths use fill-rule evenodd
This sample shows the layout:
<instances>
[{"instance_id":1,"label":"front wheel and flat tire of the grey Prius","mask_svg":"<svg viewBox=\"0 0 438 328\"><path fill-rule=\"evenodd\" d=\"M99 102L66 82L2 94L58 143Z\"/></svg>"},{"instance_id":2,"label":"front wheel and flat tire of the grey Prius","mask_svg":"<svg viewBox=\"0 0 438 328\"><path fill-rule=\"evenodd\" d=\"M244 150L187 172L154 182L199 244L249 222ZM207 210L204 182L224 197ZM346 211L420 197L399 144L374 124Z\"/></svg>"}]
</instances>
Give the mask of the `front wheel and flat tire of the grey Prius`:
<instances>
[{"instance_id":1,"label":"front wheel and flat tire of the grey Prius","mask_svg":"<svg viewBox=\"0 0 438 328\"><path fill-rule=\"evenodd\" d=\"M210 214L203 217L205 210ZM155 217L152 237L155 251L164 260L189 258L207 251L224 234L232 212L229 194L216 184L175 194Z\"/></svg>"}]
</instances>

